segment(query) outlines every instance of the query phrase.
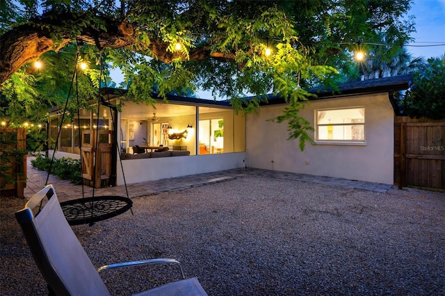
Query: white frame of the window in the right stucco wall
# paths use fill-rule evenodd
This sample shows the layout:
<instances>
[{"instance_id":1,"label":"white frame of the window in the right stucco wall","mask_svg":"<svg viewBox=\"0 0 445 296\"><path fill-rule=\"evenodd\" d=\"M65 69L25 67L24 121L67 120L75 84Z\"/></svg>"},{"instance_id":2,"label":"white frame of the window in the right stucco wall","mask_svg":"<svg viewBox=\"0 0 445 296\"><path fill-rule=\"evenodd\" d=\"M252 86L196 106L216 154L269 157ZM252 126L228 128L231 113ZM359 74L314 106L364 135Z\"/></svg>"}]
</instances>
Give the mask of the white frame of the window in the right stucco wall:
<instances>
[{"instance_id":1,"label":"white frame of the window in the right stucco wall","mask_svg":"<svg viewBox=\"0 0 445 296\"><path fill-rule=\"evenodd\" d=\"M364 122L353 122L353 123L336 123L336 124L318 124L318 112L320 111L331 111L331 110L348 110L348 109L359 109L363 108L364 110ZM354 146L366 146L366 108L364 106L351 106L351 107L342 107L342 108L323 108L314 110L314 122L315 122L315 143L316 145L354 145ZM362 125L364 138L363 140L327 140L318 138L318 127L319 126L353 126L353 125Z\"/></svg>"}]
</instances>

